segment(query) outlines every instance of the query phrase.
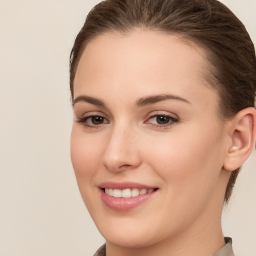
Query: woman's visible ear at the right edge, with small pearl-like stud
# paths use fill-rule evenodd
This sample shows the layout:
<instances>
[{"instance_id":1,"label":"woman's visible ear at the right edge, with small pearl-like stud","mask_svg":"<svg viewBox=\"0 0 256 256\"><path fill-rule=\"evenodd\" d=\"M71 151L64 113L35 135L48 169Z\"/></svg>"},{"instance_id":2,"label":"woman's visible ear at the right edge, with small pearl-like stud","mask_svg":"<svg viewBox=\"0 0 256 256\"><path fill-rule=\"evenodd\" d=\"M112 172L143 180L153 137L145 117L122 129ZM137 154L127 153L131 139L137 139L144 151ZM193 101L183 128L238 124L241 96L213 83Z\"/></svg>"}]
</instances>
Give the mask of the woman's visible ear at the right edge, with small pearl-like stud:
<instances>
[{"instance_id":1,"label":"woman's visible ear at the right edge, with small pearl-like stud","mask_svg":"<svg viewBox=\"0 0 256 256\"><path fill-rule=\"evenodd\" d=\"M223 168L233 171L249 157L256 139L256 109L244 108L230 120L228 134L231 146L228 147Z\"/></svg>"}]
</instances>

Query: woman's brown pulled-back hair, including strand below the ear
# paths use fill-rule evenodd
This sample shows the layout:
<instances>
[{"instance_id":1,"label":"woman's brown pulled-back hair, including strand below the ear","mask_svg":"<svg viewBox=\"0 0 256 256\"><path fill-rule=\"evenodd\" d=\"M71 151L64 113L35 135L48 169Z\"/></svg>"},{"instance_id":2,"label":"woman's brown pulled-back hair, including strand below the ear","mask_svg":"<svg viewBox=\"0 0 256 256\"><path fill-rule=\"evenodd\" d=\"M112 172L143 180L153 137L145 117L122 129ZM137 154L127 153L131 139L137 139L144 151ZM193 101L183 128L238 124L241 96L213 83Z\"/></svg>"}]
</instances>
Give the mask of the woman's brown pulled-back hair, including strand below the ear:
<instances>
[{"instance_id":1,"label":"woman's brown pulled-back hair, including strand below the ear","mask_svg":"<svg viewBox=\"0 0 256 256\"><path fill-rule=\"evenodd\" d=\"M206 52L207 79L219 95L223 119L254 107L256 59L253 43L241 21L218 0L105 0L88 13L70 53L70 91L86 44L108 32L148 28L175 33ZM240 168L231 172L228 201Z\"/></svg>"}]
</instances>

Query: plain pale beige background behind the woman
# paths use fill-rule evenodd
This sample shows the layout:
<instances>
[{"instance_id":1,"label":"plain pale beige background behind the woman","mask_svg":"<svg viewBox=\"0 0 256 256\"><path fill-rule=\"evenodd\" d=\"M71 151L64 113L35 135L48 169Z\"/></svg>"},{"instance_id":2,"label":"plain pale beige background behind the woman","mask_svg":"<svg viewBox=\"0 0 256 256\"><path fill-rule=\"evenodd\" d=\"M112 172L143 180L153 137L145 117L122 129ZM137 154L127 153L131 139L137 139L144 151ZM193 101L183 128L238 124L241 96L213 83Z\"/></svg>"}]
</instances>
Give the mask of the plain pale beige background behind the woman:
<instances>
[{"instance_id":1,"label":"plain pale beige background behind the woman","mask_svg":"<svg viewBox=\"0 0 256 256\"><path fill-rule=\"evenodd\" d=\"M69 159L68 55L97 0L0 0L0 255L92 255L103 243ZM223 0L256 42L256 1ZM223 214L236 255L256 256L256 153Z\"/></svg>"}]
</instances>

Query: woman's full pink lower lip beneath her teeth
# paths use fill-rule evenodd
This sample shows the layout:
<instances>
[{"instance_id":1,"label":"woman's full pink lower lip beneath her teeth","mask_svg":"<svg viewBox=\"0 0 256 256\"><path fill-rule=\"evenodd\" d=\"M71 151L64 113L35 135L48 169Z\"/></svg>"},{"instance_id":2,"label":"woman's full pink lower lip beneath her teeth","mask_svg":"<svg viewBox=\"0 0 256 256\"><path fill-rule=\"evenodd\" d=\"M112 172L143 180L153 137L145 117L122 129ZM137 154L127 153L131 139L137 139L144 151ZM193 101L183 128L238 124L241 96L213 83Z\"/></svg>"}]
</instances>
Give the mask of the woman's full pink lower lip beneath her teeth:
<instances>
[{"instance_id":1,"label":"woman's full pink lower lip beneath her teeth","mask_svg":"<svg viewBox=\"0 0 256 256\"><path fill-rule=\"evenodd\" d=\"M148 194L140 194L138 196L128 197L128 198L113 197L106 194L102 189L99 189L99 190L100 190L101 199L108 208L117 210L117 211L127 211L147 201L153 194L155 194L155 192L158 189Z\"/></svg>"}]
</instances>

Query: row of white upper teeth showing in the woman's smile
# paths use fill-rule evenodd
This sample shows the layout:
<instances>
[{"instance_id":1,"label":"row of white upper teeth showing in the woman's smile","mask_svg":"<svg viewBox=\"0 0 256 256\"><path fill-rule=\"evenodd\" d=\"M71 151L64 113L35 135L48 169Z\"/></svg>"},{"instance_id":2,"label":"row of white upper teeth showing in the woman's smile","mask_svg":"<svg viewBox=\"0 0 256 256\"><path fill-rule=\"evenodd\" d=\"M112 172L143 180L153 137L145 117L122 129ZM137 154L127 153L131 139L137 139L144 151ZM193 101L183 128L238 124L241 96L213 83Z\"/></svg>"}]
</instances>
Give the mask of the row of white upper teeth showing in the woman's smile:
<instances>
[{"instance_id":1,"label":"row of white upper teeth showing in the woman's smile","mask_svg":"<svg viewBox=\"0 0 256 256\"><path fill-rule=\"evenodd\" d=\"M154 188L146 189L138 189L138 188L125 188L125 189L113 189L113 188L105 188L105 193L113 196L113 197L134 197L138 196L139 194L146 194L146 193L152 193L154 191Z\"/></svg>"}]
</instances>

